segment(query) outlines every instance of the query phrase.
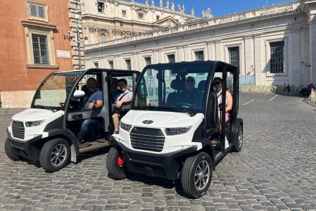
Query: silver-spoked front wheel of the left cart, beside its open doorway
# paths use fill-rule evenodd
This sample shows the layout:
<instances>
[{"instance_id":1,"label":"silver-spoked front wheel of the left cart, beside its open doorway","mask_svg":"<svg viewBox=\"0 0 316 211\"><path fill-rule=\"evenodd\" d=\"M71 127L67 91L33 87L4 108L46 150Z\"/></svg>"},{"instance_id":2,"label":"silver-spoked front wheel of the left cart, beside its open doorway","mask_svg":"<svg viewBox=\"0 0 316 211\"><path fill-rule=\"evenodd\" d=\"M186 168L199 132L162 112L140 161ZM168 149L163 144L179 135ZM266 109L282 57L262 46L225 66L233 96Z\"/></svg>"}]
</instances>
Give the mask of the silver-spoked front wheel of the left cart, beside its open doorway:
<instances>
[{"instance_id":1,"label":"silver-spoked front wheel of the left cart, beside its open doorway","mask_svg":"<svg viewBox=\"0 0 316 211\"><path fill-rule=\"evenodd\" d=\"M41 148L39 163L47 172L56 172L68 164L69 158L69 143L65 139L53 139Z\"/></svg>"}]
</instances>

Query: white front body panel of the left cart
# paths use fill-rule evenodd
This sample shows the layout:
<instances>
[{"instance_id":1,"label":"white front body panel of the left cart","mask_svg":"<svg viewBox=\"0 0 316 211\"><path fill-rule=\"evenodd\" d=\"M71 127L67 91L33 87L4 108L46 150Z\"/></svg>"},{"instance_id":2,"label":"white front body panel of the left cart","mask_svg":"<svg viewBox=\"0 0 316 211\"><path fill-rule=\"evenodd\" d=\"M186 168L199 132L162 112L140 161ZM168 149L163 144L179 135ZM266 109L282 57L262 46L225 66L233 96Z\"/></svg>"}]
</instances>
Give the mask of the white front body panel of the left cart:
<instances>
[{"instance_id":1,"label":"white front body panel of the left cart","mask_svg":"<svg viewBox=\"0 0 316 211\"><path fill-rule=\"evenodd\" d=\"M42 135L42 138L46 138L48 136L48 132L44 132L46 125L58 119L64 113L65 112L62 110L59 110L54 113L52 110L28 108L16 115L13 115L12 117L13 121L23 122L24 127L25 127L25 138L19 139L13 136L12 122L10 126L8 127L8 132L10 132L13 138L18 139L20 141L29 141L30 139L33 139L34 137L39 136L39 135ZM33 121L39 121L39 120L44 120L44 122L40 124L39 126L26 127L25 125L25 122L33 122Z\"/></svg>"}]
</instances>

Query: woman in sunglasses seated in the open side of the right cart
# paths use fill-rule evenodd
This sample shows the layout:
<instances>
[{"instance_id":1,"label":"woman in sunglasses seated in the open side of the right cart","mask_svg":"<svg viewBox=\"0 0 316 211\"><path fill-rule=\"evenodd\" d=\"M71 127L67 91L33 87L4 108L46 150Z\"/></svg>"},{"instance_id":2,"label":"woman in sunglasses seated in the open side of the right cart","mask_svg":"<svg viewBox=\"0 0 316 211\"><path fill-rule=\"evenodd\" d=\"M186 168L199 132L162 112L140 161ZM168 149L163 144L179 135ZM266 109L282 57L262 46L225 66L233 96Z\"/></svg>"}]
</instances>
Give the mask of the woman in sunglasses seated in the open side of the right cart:
<instances>
[{"instance_id":1,"label":"woman in sunglasses seated in the open side of the right cart","mask_svg":"<svg viewBox=\"0 0 316 211\"><path fill-rule=\"evenodd\" d=\"M217 101L218 101L218 115L219 115L219 120L221 122L221 112L220 112L220 106L222 106L222 82L223 80L220 77L216 77L213 79L213 85L214 88L216 89L216 94L217 94ZM226 108L225 108L225 122L228 122L229 120L229 113L230 110L232 110L232 94L230 94L229 91L226 92Z\"/></svg>"}]
</instances>

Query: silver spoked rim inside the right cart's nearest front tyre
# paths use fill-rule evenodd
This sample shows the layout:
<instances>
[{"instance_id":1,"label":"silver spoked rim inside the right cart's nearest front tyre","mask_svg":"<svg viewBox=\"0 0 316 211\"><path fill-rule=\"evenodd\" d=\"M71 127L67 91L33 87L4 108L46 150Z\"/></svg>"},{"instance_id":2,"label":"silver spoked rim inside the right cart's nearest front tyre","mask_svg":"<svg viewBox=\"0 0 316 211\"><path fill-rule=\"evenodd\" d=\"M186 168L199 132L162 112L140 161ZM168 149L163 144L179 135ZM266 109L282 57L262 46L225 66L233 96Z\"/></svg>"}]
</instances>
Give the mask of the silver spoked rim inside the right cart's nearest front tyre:
<instances>
[{"instance_id":1,"label":"silver spoked rim inside the right cart's nearest front tyre","mask_svg":"<svg viewBox=\"0 0 316 211\"><path fill-rule=\"evenodd\" d=\"M209 162L202 160L195 170L195 186L199 191L204 189L209 182Z\"/></svg>"}]
</instances>

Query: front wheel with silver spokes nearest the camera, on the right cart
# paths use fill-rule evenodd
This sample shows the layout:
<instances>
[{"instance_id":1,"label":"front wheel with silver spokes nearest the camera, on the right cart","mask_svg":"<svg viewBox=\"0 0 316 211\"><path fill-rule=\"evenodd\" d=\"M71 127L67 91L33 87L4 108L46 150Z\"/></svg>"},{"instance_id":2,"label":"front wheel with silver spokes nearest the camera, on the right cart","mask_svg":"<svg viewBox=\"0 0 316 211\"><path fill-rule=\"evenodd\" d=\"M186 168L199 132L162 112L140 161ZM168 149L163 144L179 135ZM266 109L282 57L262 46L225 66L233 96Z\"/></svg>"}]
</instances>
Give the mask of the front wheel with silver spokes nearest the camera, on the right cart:
<instances>
[{"instance_id":1,"label":"front wheel with silver spokes nearest the camera, on the right cart","mask_svg":"<svg viewBox=\"0 0 316 211\"><path fill-rule=\"evenodd\" d=\"M185 160L181 173L181 186L191 198L200 198L211 184L212 160L207 153L199 153Z\"/></svg>"}]
</instances>

